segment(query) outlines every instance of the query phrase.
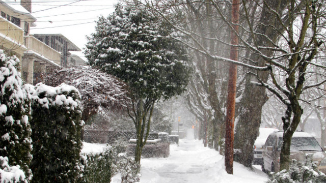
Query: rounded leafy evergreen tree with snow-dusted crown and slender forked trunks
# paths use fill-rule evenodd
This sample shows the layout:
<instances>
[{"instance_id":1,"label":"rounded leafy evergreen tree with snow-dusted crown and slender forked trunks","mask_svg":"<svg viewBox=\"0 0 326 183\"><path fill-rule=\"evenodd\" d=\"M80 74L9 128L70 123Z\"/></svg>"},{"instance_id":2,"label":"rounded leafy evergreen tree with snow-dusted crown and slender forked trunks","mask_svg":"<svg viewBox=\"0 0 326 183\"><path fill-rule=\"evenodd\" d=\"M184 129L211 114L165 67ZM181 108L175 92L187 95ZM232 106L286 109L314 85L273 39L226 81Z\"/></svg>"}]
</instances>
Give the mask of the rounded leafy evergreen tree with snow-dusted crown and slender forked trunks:
<instances>
[{"instance_id":1,"label":"rounded leafy evergreen tree with snow-dusted crown and slender forked trunks","mask_svg":"<svg viewBox=\"0 0 326 183\"><path fill-rule=\"evenodd\" d=\"M173 39L182 35L137 5L117 5L113 14L99 18L95 29L86 57L91 66L127 83L132 100L128 113L137 132L135 161L140 162L155 101L179 95L187 85L186 50Z\"/></svg>"}]
</instances>

